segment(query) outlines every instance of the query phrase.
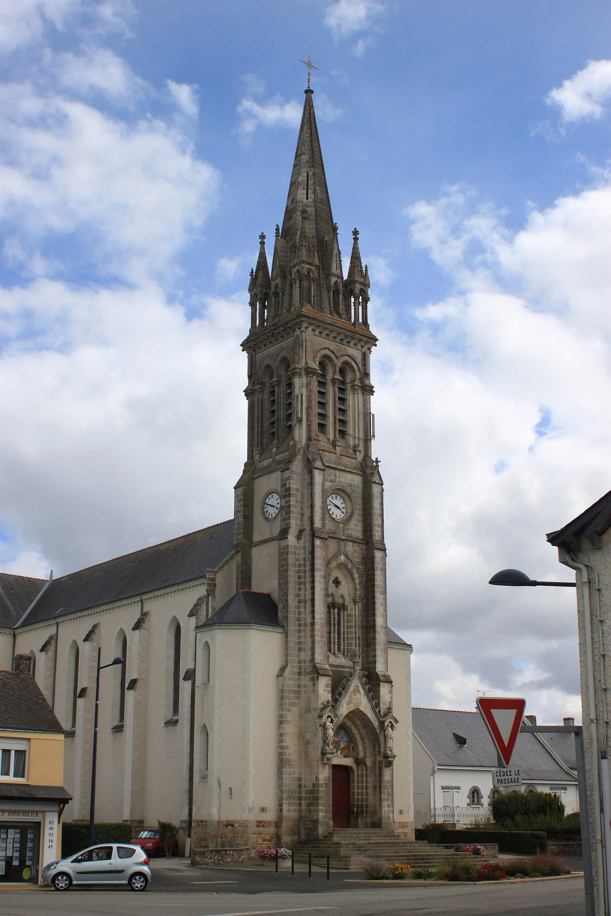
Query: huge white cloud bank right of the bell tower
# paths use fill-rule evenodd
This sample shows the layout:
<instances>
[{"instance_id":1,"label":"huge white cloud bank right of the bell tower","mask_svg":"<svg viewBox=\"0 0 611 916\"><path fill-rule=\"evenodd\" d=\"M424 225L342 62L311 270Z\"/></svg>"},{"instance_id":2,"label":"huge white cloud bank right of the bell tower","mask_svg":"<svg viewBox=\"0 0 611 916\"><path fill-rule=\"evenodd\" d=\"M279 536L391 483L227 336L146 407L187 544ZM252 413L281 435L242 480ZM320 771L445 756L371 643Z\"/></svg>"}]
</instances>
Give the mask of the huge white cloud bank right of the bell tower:
<instances>
[{"instance_id":1,"label":"huge white cloud bank right of the bell tower","mask_svg":"<svg viewBox=\"0 0 611 916\"><path fill-rule=\"evenodd\" d=\"M574 594L487 581L507 567L570 580L545 532L611 487L611 187L515 234L466 189L407 215L453 293L409 335L369 309L389 622L422 658L415 702L469 708L487 684L559 721L578 707Z\"/></svg>"}]
</instances>

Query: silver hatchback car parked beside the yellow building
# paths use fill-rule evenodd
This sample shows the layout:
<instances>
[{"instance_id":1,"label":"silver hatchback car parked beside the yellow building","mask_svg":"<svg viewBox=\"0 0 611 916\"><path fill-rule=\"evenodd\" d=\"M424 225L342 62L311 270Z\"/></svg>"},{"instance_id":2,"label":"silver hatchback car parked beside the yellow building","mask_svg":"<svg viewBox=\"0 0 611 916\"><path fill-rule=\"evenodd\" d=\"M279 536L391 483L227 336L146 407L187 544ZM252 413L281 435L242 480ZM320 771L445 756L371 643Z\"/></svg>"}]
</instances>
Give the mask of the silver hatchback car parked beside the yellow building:
<instances>
[{"instance_id":1,"label":"silver hatchback car parked beside the yellow building","mask_svg":"<svg viewBox=\"0 0 611 916\"><path fill-rule=\"evenodd\" d=\"M72 884L126 884L132 890L145 890L150 879L144 850L123 843L90 846L42 869L42 883L56 890L68 890Z\"/></svg>"}]
</instances>

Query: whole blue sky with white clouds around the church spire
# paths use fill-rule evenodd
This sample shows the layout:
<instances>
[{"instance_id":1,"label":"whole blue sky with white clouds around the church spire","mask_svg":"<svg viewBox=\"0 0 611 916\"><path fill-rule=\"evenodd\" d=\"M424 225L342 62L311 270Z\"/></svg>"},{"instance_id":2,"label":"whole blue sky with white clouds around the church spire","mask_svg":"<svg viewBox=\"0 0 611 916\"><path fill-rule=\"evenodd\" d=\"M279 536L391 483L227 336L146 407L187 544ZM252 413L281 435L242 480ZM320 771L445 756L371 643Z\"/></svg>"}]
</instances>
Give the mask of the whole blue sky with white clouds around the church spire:
<instances>
[{"instance_id":1,"label":"whole blue sky with white clouds around the church spire","mask_svg":"<svg viewBox=\"0 0 611 916\"><path fill-rule=\"evenodd\" d=\"M610 18L0 0L1 567L65 573L231 515L245 287L311 54L340 244L358 226L372 278L415 702L579 715L574 596L486 583L568 578L544 534L611 486Z\"/></svg>"}]
</instances>

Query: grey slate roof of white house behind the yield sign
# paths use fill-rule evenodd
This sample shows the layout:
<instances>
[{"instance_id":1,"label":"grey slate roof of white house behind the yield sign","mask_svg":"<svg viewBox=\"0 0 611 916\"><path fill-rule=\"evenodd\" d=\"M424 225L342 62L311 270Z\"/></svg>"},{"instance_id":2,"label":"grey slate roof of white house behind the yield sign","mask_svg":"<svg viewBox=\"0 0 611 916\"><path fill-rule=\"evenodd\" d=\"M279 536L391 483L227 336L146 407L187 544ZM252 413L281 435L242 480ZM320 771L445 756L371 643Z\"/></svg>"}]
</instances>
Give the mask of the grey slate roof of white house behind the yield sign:
<instances>
[{"instance_id":1,"label":"grey slate roof of white house behind the yield sign","mask_svg":"<svg viewBox=\"0 0 611 916\"><path fill-rule=\"evenodd\" d=\"M453 709L422 709L415 706L411 715L415 734L438 766L491 769L496 767L496 749L479 713L464 713ZM456 741L454 732L467 739L463 747ZM522 770L523 782L577 780L576 775L567 773L566 769L554 760L539 738L532 733L518 735L511 766Z\"/></svg>"}]
</instances>

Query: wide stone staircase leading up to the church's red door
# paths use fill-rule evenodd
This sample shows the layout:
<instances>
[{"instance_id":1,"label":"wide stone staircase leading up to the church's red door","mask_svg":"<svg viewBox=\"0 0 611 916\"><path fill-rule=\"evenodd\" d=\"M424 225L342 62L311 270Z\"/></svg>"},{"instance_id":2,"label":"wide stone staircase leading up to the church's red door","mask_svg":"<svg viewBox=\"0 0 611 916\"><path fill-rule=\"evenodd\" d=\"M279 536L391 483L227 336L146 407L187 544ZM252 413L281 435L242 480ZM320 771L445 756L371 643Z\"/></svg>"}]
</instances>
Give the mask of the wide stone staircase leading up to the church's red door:
<instances>
[{"instance_id":1,"label":"wide stone staircase leading up to the church's red door","mask_svg":"<svg viewBox=\"0 0 611 916\"><path fill-rule=\"evenodd\" d=\"M295 845L293 849L296 862L307 863L311 853L312 865L322 867L330 856L333 869L358 869L362 859L374 857L388 863L404 862L412 868L434 868L450 858L473 860L471 853L455 853L443 846L404 840L375 829L335 828L330 834ZM478 857L478 861L488 859Z\"/></svg>"}]
</instances>

